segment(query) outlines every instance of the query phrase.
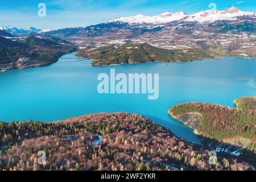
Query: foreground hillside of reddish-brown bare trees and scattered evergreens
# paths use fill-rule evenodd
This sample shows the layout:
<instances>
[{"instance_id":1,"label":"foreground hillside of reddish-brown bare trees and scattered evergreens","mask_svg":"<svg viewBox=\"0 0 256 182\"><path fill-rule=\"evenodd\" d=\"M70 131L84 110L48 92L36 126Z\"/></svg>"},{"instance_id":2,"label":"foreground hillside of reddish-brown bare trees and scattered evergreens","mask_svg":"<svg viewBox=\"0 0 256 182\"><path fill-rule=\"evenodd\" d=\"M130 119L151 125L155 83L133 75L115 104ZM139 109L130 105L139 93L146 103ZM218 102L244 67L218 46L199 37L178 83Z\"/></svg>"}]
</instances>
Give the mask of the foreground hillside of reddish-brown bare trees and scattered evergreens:
<instances>
[{"instance_id":1,"label":"foreground hillside of reddish-brown bare trees and scattered evergreens","mask_svg":"<svg viewBox=\"0 0 256 182\"><path fill-rule=\"evenodd\" d=\"M60 122L0 122L1 170L254 170L137 114L102 113ZM46 161L38 164L38 151Z\"/></svg>"}]
</instances>

